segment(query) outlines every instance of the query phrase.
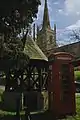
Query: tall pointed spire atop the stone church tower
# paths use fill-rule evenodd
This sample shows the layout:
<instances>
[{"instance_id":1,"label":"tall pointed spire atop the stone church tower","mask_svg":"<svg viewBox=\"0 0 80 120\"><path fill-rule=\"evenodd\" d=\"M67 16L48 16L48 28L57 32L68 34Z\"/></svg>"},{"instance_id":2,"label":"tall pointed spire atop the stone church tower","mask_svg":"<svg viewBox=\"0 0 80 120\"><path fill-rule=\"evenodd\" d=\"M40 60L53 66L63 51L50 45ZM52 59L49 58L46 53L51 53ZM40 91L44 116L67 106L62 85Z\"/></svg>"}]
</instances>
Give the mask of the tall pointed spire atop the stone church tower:
<instances>
[{"instance_id":1,"label":"tall pointed spire atop the stone church tower","mask_svg":"<svg viewBox=\"0 0 80 120\"><path fill-rule=\"evenodd\" d=\"M49 14L48 14L48 7L47 7L47 0L45 0L44 6L44 16L43 16L43 28L50 28L50 21L49 21Z\"/></svg>"}]
</instances>

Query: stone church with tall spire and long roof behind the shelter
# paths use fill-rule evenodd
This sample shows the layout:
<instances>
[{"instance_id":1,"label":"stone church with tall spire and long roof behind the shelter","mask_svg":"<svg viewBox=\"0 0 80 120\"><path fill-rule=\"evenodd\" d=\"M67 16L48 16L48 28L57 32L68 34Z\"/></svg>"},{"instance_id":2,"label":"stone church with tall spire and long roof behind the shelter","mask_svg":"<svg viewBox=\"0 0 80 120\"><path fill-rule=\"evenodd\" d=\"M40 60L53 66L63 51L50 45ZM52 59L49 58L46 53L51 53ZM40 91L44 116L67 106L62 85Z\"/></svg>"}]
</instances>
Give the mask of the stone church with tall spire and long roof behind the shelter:
<instances>
[{"instance_id":1,"label":"stone church with tall spire and long roof behind the shelter","mask_svg":"<svg viewBox=\"0 0 80 120\"><path fill-rule=\"evenodd\" d=\"M33 38L35 38L35 29L33 31ZM56 24L54 24L54 29L52 30L47 0L45 0L44 5L42 28L39 29L37 26L37 38L35 42L46 56L53 52L69 52L74 55L75 59L80 58L80 42L58 47L56 43Z\"/></svg>"}]
</instances>

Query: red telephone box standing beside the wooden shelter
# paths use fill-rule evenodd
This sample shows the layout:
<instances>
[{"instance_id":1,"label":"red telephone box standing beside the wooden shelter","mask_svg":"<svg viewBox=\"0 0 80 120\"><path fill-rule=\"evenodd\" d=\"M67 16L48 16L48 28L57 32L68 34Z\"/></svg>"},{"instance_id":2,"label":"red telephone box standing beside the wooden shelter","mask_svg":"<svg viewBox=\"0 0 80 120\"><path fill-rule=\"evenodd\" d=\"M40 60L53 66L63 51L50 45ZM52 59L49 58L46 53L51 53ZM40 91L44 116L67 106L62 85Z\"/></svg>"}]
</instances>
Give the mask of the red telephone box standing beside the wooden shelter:
<instances>
[{"instance_id":1,"label":"red telephone box standing beside the wooden shelter","mask_svg":"<svg viewBox=\"0 0 80 120\"><path fill-rule=\"evenodd\" d=\"M49 57L49 110L56 116L76 113L74 57L67 52L57 52Z\"/></svg>"}]
</instances>

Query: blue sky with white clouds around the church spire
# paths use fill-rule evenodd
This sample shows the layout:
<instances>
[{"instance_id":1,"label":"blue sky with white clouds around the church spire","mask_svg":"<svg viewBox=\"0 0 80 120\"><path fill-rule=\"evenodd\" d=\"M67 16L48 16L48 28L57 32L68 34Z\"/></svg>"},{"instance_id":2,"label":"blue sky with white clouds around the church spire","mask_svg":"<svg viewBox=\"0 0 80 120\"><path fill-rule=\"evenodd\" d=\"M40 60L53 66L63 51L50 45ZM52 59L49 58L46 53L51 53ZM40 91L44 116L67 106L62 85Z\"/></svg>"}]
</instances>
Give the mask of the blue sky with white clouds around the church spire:
<instances>
[{"instance_id":1,"label":"blue sky with white clouds around the church spire","mask_svg":"<svg viewBox=\"0 0 80 120\"><path fill-rule=\"evenodd\" d=\"M44 13L44 2L41 0L36 23L42 24ZM80 28L80 0L47 0L51 28L54 23L57 26L57 39L62 44L69 41L68 33L71 30Z\"/></svg>"}]
</instances>

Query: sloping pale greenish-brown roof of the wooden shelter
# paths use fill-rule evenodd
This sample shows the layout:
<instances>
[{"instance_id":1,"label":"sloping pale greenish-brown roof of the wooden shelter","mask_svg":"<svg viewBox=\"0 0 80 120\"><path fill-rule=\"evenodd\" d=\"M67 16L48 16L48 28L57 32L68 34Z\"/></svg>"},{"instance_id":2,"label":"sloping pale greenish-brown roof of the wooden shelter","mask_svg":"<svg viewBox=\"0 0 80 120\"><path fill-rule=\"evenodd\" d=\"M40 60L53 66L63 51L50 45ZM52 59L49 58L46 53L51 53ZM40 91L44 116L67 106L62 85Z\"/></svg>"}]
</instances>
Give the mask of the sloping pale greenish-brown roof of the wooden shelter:
<instances>
[{"instance_id":1,"label":"sloping pale greenish-brown roof of the wooden shelter","mask_svg":"<svg viewBox=\"0 0 80 120\"><path fill-rule=\"evenodd\" d=\"M30 59L48 61L48 58L44 55L36 42L30 36L27 37L24 53L26 53Z\"/></svg>"}]
</instances>

